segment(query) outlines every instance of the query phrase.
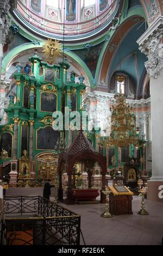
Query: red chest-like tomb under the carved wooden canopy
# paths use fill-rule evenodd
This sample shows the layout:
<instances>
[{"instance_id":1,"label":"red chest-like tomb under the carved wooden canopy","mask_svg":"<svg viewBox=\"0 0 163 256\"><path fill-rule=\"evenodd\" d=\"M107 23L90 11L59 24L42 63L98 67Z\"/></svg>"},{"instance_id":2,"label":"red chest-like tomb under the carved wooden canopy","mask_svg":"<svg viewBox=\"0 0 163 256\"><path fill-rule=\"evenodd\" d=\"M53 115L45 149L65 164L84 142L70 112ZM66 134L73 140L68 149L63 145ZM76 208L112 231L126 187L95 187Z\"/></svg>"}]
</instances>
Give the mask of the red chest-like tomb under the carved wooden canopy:
<instances>
[{"instance_id":1,"label":"red chest-like tomb under the carved wooden canopy","mask_svg":"<svg viewBox=\"0 0 163 256\"><path fill-rule=\"evenodd\" d=\"M96 198L99 196L98 189L73 189L74 200L77 203L99 203Z\"/></svg>"}]
</instances>

